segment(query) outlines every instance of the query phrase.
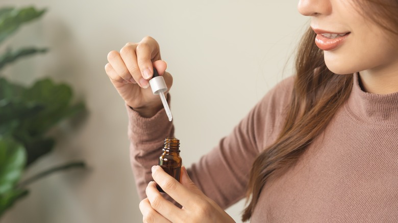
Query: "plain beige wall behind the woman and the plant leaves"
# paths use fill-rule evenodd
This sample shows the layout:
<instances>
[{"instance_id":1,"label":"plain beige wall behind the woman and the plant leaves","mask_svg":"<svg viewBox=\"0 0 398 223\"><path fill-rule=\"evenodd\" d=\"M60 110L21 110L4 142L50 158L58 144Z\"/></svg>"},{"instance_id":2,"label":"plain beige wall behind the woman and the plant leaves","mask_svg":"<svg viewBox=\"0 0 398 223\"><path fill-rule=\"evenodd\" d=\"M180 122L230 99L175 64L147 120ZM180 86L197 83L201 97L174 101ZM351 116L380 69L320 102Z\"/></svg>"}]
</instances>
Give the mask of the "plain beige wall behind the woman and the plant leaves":
<instances>
[{"instance_id":1,"label":"plain beige wall behind the woman and the plant leaves","mask_svg":"<svg viewBox=\"0 0 398 223\"><path fill-rule=\"evenodd\" d=\"M47 8L10 46L44 46L44 55L5 70L29 85L49 76L69 83L89 110L63 124L51 154L28 171L83 159L87 170L58 173L30 186L2 223L142 222L130 169L127 116L104 66L127 42L154 37L174 77L171 111L186 166L229 134L276 83L292 74L294 50L308 26L296 1L44 1L4 0L0 6ZM3 44L4 45L4 44ZM237 222L244 202L227 211Z\"/></svg>"}]
</instances>

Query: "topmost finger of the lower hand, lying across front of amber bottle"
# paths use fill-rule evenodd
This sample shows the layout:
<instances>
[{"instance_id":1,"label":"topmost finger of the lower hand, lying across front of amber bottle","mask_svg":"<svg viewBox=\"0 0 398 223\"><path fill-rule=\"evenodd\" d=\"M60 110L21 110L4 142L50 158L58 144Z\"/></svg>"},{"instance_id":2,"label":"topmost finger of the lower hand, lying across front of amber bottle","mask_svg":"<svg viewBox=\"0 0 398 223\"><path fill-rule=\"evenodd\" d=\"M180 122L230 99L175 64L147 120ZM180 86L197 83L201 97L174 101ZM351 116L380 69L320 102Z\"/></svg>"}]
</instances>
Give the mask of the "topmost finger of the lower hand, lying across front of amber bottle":
<instances>
[{"instance_id":1,"label":"topmost finger of the lower hand, lying across front of amber bottle","mask_svg":"<svg viewBox=\"0 0 398 223\"><path fill-rule=\"evenodd\" d=\"M190 207L195 204L192 201L200 200L201 194L198 194L197 190L191 191L190 188L183 186L164 172L159 165L152 166L152 177L172 199L183 207Z\"/></svg>"}]
</instances>

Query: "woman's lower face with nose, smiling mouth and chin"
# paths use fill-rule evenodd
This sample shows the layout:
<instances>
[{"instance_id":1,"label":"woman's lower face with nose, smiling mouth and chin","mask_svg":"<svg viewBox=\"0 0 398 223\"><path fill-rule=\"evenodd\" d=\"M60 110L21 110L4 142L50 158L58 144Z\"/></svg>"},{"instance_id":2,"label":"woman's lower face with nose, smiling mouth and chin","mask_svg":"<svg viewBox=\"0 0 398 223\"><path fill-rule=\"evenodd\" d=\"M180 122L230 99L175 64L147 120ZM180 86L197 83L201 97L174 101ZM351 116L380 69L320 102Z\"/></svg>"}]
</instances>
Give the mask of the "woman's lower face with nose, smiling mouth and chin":
<instances>
[{"instance_id":1,"label":"woman's lower face with nose, smiling mouth and chin","mask_svg":"<svg viewBox=\"0 0 398 223\"><path fill-rule=\"evenodd\" d=\"M301 14L311 16L311 27L317 33L315 44L324 50L325 63L332 72L396 72L396 44L391 44L390 34L366 19L356 4L360 3L300 0L298 8Z\"/></svg>"}]
</instances>

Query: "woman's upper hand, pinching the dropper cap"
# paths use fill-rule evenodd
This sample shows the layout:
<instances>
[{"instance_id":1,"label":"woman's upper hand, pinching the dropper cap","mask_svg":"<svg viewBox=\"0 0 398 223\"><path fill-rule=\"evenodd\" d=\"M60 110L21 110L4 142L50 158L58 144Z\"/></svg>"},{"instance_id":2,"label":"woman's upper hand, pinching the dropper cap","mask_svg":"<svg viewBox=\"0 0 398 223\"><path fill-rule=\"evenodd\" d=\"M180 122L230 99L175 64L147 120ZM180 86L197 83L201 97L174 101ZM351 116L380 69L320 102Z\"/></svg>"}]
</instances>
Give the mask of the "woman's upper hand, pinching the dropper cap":
<instances>
[{"instance_id":1,"label":"woman's upper hand, pinching the dropper cap","mask_svg":"<svg viewBox=\"0 0 398 223\"><path fill-rule=\"evenodd\" d=\"M159 96L152 93L149 80L156 68L170 89L172 77L165 72L167 64L161 60L155 39L145 37L139 43L127 43L120 52L112 50L108 53L108 62L105 71L127 105L147 118L163 107Z\"/></svg>"}]
</instances>

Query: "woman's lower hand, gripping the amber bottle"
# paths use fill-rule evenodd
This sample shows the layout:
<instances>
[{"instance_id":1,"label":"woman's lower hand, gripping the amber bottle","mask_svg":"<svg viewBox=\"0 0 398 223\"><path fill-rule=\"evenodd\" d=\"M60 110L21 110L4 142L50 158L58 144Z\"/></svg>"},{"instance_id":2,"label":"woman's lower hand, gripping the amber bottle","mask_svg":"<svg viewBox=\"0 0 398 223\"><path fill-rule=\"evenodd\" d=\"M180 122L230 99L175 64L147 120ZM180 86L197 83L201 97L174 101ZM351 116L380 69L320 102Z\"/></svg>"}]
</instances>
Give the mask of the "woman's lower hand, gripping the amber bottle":
<instances>
[{"instance_id":1,"label":"woman's lower hand, gripping the amber bottle","mask_svg":"<svg viewBox=\"0 0 398 223\"><path fill-rule=\"evenodd\" d=\"M143 222L235 222L213 200L196 187L183 166L181 183L160 166L152 167L152 177L182 208L163 198L155 182L146 187L147 198L140 203Z\"/></svg>"}]
</instances>

